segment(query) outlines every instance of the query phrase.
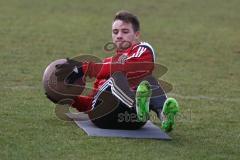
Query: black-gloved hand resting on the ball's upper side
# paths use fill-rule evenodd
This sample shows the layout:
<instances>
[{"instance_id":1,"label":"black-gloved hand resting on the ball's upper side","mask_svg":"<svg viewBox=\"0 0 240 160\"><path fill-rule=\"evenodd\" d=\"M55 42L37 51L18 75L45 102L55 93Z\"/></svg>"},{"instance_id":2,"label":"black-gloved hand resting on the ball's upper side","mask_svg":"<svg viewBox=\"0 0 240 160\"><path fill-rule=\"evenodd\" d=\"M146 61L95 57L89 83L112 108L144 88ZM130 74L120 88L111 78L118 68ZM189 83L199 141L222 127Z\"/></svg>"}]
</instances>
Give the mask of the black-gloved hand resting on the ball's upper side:
<instances>
[{"instance_id":1,"label":"black-gloved hand resting on the ball's upper side","mask_svg":"<svg viewBox=\"0 0 240 160\"><path fill-rule=\"evenodd\" d=\"M82 62L67 58L67 62L56 65L55 75L58 81L64 81L73 84L76 80L84 76Z\"/></svg>"}]
</instances>

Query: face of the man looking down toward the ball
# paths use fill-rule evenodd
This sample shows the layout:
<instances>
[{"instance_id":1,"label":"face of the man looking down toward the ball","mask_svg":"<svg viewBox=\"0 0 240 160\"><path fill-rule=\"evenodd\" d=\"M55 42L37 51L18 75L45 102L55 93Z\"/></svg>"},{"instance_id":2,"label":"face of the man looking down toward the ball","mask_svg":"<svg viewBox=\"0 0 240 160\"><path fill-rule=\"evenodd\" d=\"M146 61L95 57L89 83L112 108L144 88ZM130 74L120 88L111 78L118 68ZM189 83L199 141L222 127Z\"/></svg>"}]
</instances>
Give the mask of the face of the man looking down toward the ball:
<instances>
[{"instance_id":1,"label":"face of the man looking down toward the ball","mask_svg":"<svg viewBox=\"0 0 240 160\"><path fill-rule=\"evenodd\" d=\"M119 50L124 50L137 43L139 34L139 31L134 32L131 23L116 20L112 24L112 40Z\"/></svg>"}]
</instances>

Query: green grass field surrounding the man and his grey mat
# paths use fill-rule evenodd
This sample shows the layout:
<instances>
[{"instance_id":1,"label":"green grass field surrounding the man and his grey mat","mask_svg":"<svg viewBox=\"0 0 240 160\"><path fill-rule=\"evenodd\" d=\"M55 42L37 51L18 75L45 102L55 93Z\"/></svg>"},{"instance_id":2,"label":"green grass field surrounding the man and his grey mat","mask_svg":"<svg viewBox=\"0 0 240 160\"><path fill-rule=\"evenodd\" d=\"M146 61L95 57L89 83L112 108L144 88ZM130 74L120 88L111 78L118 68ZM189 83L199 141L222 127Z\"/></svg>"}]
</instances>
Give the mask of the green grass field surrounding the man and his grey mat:
<instances>
[{"instance_id":1,"label":"green grass field surrounding the man and his grey mat","mask_svg":"<svg viewBox=\"0 0 240 160\"><path fill-rule=\"evenodd\" d=\"M103 45L121 9L168 68L181 106L172 141L88 137L43 94L53 60L112 55ZM238 160L239 11L239 0L0 0L0 159Z\"/></svg>"}]
</instances>

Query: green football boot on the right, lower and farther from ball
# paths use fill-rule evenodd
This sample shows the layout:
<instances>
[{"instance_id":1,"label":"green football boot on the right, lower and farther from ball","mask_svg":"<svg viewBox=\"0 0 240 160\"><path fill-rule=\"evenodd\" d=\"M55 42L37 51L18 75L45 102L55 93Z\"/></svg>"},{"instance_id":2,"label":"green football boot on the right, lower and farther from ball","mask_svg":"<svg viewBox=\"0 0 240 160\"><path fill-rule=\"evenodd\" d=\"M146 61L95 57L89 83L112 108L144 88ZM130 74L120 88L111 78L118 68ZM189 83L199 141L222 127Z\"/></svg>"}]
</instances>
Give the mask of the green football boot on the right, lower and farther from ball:
<instances>
[{"instance_id":1,"label":"green football boot on the right, lower and farther from ball","mask_svg":"<svg viewBox=\"0 0 240 160\"><path fill-rule=\"evenodd\" d=\"M179 105L174 98L167 98L164 102L161 119L162 129L165 132L170 132L175 125L175 115L179 112Z\"/></svg>"}]
</instances>

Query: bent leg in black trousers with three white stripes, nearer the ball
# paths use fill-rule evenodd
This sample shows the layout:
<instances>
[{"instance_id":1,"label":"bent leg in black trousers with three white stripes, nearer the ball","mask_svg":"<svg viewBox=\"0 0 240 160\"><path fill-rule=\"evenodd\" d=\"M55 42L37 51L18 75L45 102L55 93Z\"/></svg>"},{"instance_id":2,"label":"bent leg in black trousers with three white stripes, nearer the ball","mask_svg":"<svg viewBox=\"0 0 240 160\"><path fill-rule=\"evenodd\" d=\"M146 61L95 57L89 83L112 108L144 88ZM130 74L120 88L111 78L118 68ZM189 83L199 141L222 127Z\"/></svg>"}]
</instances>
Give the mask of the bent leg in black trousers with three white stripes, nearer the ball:
<instances>
[{"instance_id":1,"label":"bent leg in black trousers with three white stripes, nearer the ball","mask_svg":"<svg viewBox=\"0 0 240 160\"><path fill-rule=\"evenodd\" d=\"M114 73L95 95L89 117L100 128L138 129L146 121L139 121L135 105L127 78Z\"/></svg>"}]
</instances>

